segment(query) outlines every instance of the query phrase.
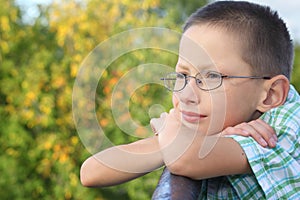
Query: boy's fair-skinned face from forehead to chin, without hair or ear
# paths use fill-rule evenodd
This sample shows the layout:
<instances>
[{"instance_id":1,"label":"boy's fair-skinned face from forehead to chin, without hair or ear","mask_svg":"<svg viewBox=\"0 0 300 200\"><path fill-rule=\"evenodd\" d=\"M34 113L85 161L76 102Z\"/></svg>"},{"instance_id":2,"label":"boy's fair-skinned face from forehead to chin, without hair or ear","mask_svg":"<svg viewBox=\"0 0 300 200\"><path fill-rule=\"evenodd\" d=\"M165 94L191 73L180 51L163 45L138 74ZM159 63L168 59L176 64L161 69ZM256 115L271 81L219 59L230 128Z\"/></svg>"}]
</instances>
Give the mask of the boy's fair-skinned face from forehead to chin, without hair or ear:
<instances>
[{"instance_id":1,"label":"boy's fair-skinned face from forehead to chin, without hair or ear","mask_svg":"<svg viewBox=\"0 0 300 200\"><path fill-rule=\"evenodd\" d=\"M241 48L232 34L216 27L195 25L183 34L176 72L195 76L203 71L253 75L242 60ZM183 124L202 134L216 134L228 126L259 117L256 107L262 83L262 80L224 78L219 88L204 91L191 78L182 91L173 93L173 105Z\"/></svg>"}]
</instances>

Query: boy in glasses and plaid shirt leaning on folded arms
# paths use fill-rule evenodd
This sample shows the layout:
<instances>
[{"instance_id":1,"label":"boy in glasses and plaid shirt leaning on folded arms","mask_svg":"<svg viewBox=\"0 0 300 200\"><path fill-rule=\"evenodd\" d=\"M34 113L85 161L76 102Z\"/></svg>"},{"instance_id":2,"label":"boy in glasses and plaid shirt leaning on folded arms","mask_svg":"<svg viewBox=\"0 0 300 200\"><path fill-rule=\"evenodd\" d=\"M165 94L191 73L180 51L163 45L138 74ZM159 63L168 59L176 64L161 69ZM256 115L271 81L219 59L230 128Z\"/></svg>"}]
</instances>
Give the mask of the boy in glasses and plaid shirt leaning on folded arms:
<instances>
[{"instance_id":1,"label":"boy in glasses and plaid shirt leaning on folded arms","mask_svg":"<svg viewBox=\"0 0 300 200\"><path fill-rule=\"evenodd\" d=\"M259 20L254 20L257 18ZM262 24L259 24L260 21L263 21ZM274 28L278 30L274 31ZM255 33L261 29L264 29L264 34ZM273 35L268 35L270 29ZM195 57L195 51L190 51L190 45L193 45L190 40L200 45L213 62L207 65L206 60ZM166 165L174 174L203 180L203 198L249 197L249 188L244 190L246 186L243 184L248 180L251 187L257 188L251 197L296 197L290 191L286 194L279 189L275 190L275 194L270 193L269 188L264 190L266 186L256 181L255 177L259 174L247 157L244 138L216 137L225 128L242 122L249 123L237 128L254 135L260 132L265 125L257 119L262 113L282 105L289 91L295 96L292 103L299 103L298 94L293 88L289 90L292 59L293 48L285 25L269 10L246 2L217 2L203 8L185 26L176 66L175 77L178 80L174 87L168 84L169 89L176 91L173 93L174 109L170 114L152 120L158 137L112 147L90 157L81 168L83 185L119 184ZM168 77L165 80L173 80ZM299 104L294 111L299 115ZM299 124L294 126L299 134ZM299 148L299 138L295 137L293 143L298 142L298 145L291 147ZM257 147L251 139L245 140ZM286 141L285 138L283 140ZM286 150L286 146L278 146L274 152L276 149L280 149L279 152ZM299 151L293 152L288 163L291 166L285 166L292 173L288 182L292 180L292 187L299 190ZM109 166L120 166L126 171ZM220 179L224 180L222 185L219 184ZM214 186L218 188L212 190Z\"/></svg>"}]
</instances>

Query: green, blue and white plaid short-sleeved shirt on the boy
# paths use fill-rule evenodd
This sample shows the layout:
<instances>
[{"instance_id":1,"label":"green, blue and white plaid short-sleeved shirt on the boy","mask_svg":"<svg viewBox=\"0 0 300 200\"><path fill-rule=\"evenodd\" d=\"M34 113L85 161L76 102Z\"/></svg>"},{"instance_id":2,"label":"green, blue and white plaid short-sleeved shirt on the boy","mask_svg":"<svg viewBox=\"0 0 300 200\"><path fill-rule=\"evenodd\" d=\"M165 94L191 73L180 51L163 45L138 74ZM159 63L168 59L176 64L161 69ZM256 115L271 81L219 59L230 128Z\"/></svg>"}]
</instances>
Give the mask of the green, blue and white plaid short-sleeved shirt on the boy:
<instances>
[{"instance_id":1,"label":"green, blue and white plaid short-sleeved shirt on the boy","mask_svg":"<svg viewBox=\"0 0 300 200\"><path fill-rule=\"evenodd\" d=\"M283 106L261 117L278 135L275 148L230 136L245 151L253 174L207 179L199 199L300 199L300 96L293 86Z\"/></svg>"}]
</instances>

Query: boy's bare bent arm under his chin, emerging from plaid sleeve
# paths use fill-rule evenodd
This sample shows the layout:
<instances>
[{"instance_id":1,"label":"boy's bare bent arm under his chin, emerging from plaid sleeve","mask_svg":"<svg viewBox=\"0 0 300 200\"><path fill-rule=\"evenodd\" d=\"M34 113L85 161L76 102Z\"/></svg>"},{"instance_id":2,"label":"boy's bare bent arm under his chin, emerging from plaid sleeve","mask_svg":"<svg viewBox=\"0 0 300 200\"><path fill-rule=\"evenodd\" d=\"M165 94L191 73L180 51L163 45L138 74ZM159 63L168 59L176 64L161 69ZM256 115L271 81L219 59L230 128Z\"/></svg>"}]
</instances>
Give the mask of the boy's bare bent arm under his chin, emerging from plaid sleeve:
<instances>
[{"instance_id":1,"label":"boy's bare bent arm under his chin, emerging from plaid sleeve","mask_svg":"<svg viewBox=\"0 0 300 200\"><path fill-rule=\"evenodd\" d=\"M158 126L163 127L158 130L158 137L164 162L172 173L205 179L251 172L247 157L235 140L197 134L174 116L165 117L163 126Z\"/></svg>"}]
</instances>

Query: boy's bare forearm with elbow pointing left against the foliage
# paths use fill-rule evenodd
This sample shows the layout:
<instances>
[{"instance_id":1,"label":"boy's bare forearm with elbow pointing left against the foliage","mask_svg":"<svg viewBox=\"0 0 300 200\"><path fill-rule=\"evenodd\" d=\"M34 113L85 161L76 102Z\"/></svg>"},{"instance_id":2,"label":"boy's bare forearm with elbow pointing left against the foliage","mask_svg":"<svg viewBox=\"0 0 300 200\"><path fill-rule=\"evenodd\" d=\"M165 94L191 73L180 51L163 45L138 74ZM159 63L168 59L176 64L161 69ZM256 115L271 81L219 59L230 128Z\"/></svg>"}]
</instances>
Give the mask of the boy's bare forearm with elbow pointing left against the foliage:
<instances>
[{"instance_id":1,"label":"boy's bare forearm with elbow pointing left against the foliage","mask_svg":"<svg viewBox=\"0 0 300 200\"><path fill-rule=\"evenodd\" d=\"M157 137L114 146L89 157L80 169L80 180L87 187L120 184L163 165Z\"/></svg>"}]
</instances>

